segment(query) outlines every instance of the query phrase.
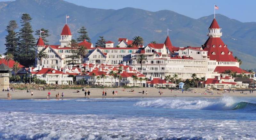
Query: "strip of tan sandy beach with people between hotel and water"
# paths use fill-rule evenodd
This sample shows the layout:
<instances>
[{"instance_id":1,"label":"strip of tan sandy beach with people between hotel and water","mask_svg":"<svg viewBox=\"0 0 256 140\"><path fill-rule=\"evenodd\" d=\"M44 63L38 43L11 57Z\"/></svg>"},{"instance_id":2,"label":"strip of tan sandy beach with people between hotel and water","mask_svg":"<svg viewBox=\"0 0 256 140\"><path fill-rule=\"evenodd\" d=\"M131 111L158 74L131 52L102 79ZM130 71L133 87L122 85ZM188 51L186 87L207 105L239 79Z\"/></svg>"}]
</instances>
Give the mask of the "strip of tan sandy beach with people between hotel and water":
<instances>
[{"instance_id":1,"label":"strip of tan sandy beach with people between hotel and water","mask_svg":"<svg viewBox=\"0 0 256 140\"><path fill-rule=\"evenodd\" d=\"M112 91L117 91L117 97L160 97L158 91L159 89L156 88L129 88L122 91L123 88L106 88L107 90L107 97L113 97ZM132 89L134 89L134 92L130 92ZM80 92L76 93L76 91L79 90ZM102 91L101 88L86 88L86 90L90 90L91 94L90 97L102 97ZM142 91L145 91L144 96L142 95ZM256 97L256 91L254 91L252 94L250 94L249 91L245 91L244 94L241 94L240 91L230 91L230 93L222 93L223 91L213 91L213 95L210 93L207 93L204 95L204 90L201 88L193 88L190 91L184 91L182 93L179 90L171 90L170 89L161 89L163 94L161 97L222 97L223 95L228 95L232 97ZM82 89L52 89L52 90L33 90L33 97L31 96L30 92L27 92L27 90L15 90L15 91L9 91L9 93L12 95L12 99L46 99L47 93L51 92L50 98L55 98L55 95L58 94L58 92L64 93L64 98L84 98L84 91ZM146 95L146 91L148 91L148 94ZM196 92L196 93L195 93ZM0 92L0 98L1 99L7 99L7 91L1 91ZM217 94L219 93L219 94ZM176 96L175 96L176 95Z\"/></svg>"}]
</instances>

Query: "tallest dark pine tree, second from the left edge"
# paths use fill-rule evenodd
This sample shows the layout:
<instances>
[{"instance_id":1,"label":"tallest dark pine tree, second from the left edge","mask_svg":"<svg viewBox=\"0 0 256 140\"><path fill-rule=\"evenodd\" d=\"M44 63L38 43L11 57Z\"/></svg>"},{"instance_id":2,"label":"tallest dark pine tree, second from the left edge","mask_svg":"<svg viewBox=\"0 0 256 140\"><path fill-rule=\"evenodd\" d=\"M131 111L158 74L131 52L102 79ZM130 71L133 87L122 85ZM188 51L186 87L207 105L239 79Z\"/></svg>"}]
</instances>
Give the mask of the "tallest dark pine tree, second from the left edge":
<instances>
[{"instance_id":1,"label":"tallest dark pine tree, second from the left edge","mask_svg":"<svg viewBox=\"0 0 256 140\"><path fill-rule=\"evenodd\" d=\"M19 33L20 43L18 47L18 60L20 64L24 66L32 66L35 62L35 38L33 36L30 20L32 20L32 18L29 14L22 14L20 20L22 28Z\"/></svg>"}]
</instances>

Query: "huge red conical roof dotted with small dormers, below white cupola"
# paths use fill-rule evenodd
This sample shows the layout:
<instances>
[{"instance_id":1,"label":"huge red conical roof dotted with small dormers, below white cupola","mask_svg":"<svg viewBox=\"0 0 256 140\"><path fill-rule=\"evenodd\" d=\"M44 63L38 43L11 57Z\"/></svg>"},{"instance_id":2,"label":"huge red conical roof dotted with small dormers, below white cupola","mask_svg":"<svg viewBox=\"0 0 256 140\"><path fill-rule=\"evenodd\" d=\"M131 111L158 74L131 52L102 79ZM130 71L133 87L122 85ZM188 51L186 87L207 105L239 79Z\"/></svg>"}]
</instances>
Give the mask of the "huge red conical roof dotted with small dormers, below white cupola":
<instances>
[{"instance_id":1,"label":"huge red conical roof dotted with small dormers, below white cupola","mask_svg":"<svg viewBox=\"0 0 256 140\"><path fill-rule=\"evenodd\" d=\"M228 50L227 45L223 43L220 37L209 37L204 43L204 51L208 51L210 60L236 62L232 52ZM224 54L221 54L222 52Z\"/></svg>"}]
</instances>

